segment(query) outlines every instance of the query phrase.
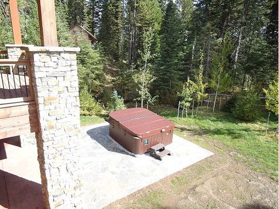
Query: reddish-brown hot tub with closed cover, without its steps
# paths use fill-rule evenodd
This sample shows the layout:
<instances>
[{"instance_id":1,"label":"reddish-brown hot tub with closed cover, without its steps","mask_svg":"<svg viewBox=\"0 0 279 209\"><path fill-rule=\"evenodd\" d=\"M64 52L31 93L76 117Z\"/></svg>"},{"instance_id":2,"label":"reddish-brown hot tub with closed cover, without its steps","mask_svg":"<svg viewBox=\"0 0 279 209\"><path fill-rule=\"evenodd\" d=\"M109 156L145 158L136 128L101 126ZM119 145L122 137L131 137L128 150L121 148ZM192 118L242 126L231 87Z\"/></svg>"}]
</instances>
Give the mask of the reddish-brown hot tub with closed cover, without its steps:
<instances>
[{"instance_id":1,"label":"reddish-brown hot tub with closed cover, without its steps","mask_svg":"<svg viewBox=\"0 0 279 209\"><path fill-rule=\"evenodd\" d=\"M175 124L144 108L109 114L110 136L134 154L143 154L159 143L172 143Z\"/></svg>"}]
</instances>

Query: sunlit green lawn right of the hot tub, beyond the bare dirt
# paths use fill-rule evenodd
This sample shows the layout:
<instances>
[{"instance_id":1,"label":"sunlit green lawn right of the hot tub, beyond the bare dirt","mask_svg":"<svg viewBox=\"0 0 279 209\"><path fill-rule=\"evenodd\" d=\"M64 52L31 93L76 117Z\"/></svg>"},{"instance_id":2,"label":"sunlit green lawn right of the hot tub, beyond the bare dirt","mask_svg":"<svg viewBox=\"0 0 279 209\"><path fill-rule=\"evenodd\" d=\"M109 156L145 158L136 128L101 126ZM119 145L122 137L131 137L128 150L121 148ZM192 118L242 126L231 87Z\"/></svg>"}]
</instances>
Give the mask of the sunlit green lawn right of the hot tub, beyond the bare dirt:
<instances>
[{"instance_id":1,"label":"sunlit green lawn right of the hot tub, beyond the bare dirt","mask_svg":"<svg viewBox=\"0 0 279 209\"><path fill-rule=\"evenodd\" d=\"M198 137L222 142L226 147L235 149L242 157L239 160L249 163L253 169L267 173L271 178L278 180L278 136L274 136L278 118L272 115L266 136L267 113L254 123L242 122L230 113L199 112L197 116L179 119L177 110L168 108L159 110L160 115L175 122L178 127L176 133L183 137L183 132L195 131ZM197 137L197 138L198 138ZM187 139L187 138L186 138ZM206 148L206 147L205 147Z\"/></svg>"}]
</instances>

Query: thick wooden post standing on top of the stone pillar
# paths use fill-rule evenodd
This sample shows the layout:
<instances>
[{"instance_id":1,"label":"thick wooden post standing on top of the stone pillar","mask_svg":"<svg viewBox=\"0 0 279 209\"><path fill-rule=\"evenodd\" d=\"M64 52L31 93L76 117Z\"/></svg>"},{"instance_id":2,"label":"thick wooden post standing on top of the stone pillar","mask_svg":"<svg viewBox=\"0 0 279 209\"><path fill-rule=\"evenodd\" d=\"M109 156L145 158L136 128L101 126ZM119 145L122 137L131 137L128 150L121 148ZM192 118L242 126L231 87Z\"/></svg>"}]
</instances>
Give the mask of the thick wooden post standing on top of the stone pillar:
<instances>
[{"instance_id":1,"label":"thick wooden post standing on top of the stone pillar","mask_svg":"<svg viewBox=\"0 0 279 209\"><path fill-rule=\"evenodd\" d=\"M41 45L57 47L57 31L54 0L37 0Z\"/></svg>"}]
</instances>

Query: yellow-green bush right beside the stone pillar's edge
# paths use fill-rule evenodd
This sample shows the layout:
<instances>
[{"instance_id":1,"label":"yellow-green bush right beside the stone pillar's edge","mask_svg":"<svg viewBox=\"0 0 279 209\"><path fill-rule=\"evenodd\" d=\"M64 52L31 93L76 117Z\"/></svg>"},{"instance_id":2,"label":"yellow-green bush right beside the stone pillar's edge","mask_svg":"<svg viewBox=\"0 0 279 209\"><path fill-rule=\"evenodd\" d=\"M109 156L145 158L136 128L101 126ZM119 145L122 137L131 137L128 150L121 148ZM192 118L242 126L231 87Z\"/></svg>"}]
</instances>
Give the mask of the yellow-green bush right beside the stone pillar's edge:
<instances>
[{"instance_id":1,"label":"yellow-green bush right beside the stone pillar's edge","mask_svg":"<svg viewBox=\"0 0 279 209\"><path fill-rule=\"evenodd\" d=\"M80 105L81 115L84 116L100 115L103 112L100 103L88 92L87 86L84 86L80 92Z\"/></svg>"}]
</instances>

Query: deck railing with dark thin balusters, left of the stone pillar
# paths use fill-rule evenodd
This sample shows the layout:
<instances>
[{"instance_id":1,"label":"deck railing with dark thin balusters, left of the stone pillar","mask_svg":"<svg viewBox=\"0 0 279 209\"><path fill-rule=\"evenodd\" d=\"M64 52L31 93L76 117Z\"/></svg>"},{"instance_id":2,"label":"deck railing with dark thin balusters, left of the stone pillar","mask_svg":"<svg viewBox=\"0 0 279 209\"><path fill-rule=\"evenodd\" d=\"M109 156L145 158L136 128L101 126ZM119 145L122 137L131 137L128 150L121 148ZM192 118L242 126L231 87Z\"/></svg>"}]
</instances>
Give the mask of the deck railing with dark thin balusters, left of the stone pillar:
<instances>
[{"instance_id":1,"label":"deck railing with dark thin balusters, left of the stone pillar","mask_svg":"<svg viewBox=\"0 0 279 209\"><path fill-rule=\"evenodd\" d=\"M30 61L0 59L0 105L34 100Z\"/></svg>"}]
</instances>

